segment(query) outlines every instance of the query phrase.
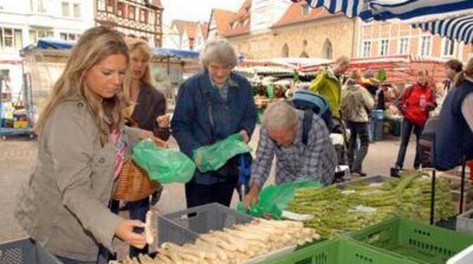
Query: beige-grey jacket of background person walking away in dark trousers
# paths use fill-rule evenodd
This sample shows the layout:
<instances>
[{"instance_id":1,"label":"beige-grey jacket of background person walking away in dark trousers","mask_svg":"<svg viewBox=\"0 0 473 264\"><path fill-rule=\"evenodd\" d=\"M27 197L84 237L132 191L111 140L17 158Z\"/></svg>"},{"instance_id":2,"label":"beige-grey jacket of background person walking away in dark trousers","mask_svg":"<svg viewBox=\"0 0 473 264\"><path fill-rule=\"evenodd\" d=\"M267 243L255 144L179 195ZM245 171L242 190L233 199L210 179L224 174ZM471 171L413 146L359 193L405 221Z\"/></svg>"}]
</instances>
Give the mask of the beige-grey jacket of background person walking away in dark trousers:
<instances>
[{"instance_id":1,"label":"beige-grey jacket of background person walking away in dark trousers","mask_svg":"<svg viewBox=\"0 0 473 264\"><path fill-rule=\"evenodd\" d=\"M374 98L361 85L347 83L342 88L343 119L352 122L366 123L369 121L369 111L374 107Z\"/></svg>"}]
</instances>

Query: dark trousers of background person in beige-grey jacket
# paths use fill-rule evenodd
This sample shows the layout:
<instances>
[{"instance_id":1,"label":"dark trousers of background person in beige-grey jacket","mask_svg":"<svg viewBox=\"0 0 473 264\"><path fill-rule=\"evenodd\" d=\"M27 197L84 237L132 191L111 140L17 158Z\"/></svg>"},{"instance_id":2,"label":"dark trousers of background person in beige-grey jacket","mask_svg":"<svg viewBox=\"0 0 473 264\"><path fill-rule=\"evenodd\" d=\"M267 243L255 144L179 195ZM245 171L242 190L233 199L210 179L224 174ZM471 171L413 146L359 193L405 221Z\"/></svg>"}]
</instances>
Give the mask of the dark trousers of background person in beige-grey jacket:
<instances>
[{"instance_id":1,"label":"dark trousers of background person in beige-grey jacket","mask_svg":"<svg viewBox=\"0 0 473 264\"><path fill-rule=\"evenodd\" d=\"M349 164L353 172L361 172L363 160L366 157L366 153L368 153L369 124L352 121L348 121L347 123L350 130L348 150ZM357 148L358 137L360 140L359 148Z\"/></svg>"}]
</instances>

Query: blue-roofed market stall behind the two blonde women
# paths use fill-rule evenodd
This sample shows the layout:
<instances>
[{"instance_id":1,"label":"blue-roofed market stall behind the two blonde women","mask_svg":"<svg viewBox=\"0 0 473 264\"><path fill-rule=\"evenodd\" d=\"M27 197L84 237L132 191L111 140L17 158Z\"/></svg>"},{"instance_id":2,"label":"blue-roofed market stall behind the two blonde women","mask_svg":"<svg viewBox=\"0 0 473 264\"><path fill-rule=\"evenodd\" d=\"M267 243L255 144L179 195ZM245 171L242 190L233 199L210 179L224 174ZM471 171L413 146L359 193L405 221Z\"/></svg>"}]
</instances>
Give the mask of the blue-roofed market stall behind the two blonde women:
<instances>
[{"instance_id":1,"label":"blue-roofed market stall behind the two blonde women","mask_svg":"<svg viewBox=\"0 0 473 264\"><path fill-rule=\"evenodd\" d=\"M24 58L23 73L30 80L34 115L44 105L54 82L64 70L73 42L42 39L21 51ZM183 82L184 73L198 67L198 52L179 49L153 48L150 66L156 87L174 105L176 90Z\"/></svg>"}]
</instances>

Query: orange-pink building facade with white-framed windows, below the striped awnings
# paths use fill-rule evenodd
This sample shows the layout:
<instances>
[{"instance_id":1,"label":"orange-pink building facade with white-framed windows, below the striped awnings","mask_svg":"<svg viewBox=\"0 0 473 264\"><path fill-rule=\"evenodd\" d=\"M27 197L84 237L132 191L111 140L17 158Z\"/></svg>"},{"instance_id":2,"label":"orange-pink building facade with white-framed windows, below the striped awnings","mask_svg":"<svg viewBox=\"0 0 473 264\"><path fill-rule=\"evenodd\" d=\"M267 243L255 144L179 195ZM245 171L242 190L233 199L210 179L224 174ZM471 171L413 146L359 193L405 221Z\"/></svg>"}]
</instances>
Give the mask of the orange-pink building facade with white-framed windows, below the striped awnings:
<instances>
[{"instance_id":1,"label":"orange-pink building facade with white-framed windows, below the striped awnings","mask_svg":"<svg viewBox=\"0 0 473 264\"><path fill-rule=\"evenodd\" d=\"M472 46L448 40L395 22L359 23L360 41L355 56L361 58L414 54L466 62Z\"/></svg>"}]
</instances>

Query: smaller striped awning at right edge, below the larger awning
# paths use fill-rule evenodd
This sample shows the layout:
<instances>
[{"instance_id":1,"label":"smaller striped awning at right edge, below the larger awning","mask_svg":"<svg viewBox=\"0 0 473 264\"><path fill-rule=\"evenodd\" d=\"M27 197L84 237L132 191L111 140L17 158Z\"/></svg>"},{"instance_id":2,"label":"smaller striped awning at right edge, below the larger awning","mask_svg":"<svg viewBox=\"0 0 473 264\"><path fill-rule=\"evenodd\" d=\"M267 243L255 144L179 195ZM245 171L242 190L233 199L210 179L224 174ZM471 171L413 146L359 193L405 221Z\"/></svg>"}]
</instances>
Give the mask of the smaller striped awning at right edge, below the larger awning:
<instances>
[{"instance_id":1,"label":"smaller striped awning at right edge, below the larger awning","mask_svg":"<svg viewBox=\"0 0 473 264\"><path fill-rule=\"evenodd\" d=\"M472 1L473 2L473 1ZM429 31L434 35L448 37L450 40L473 43L473 9L468 15L457 16L443 20L433 20L424 23L414 23L413 28Z\"/></svg>"}]
</instances>

